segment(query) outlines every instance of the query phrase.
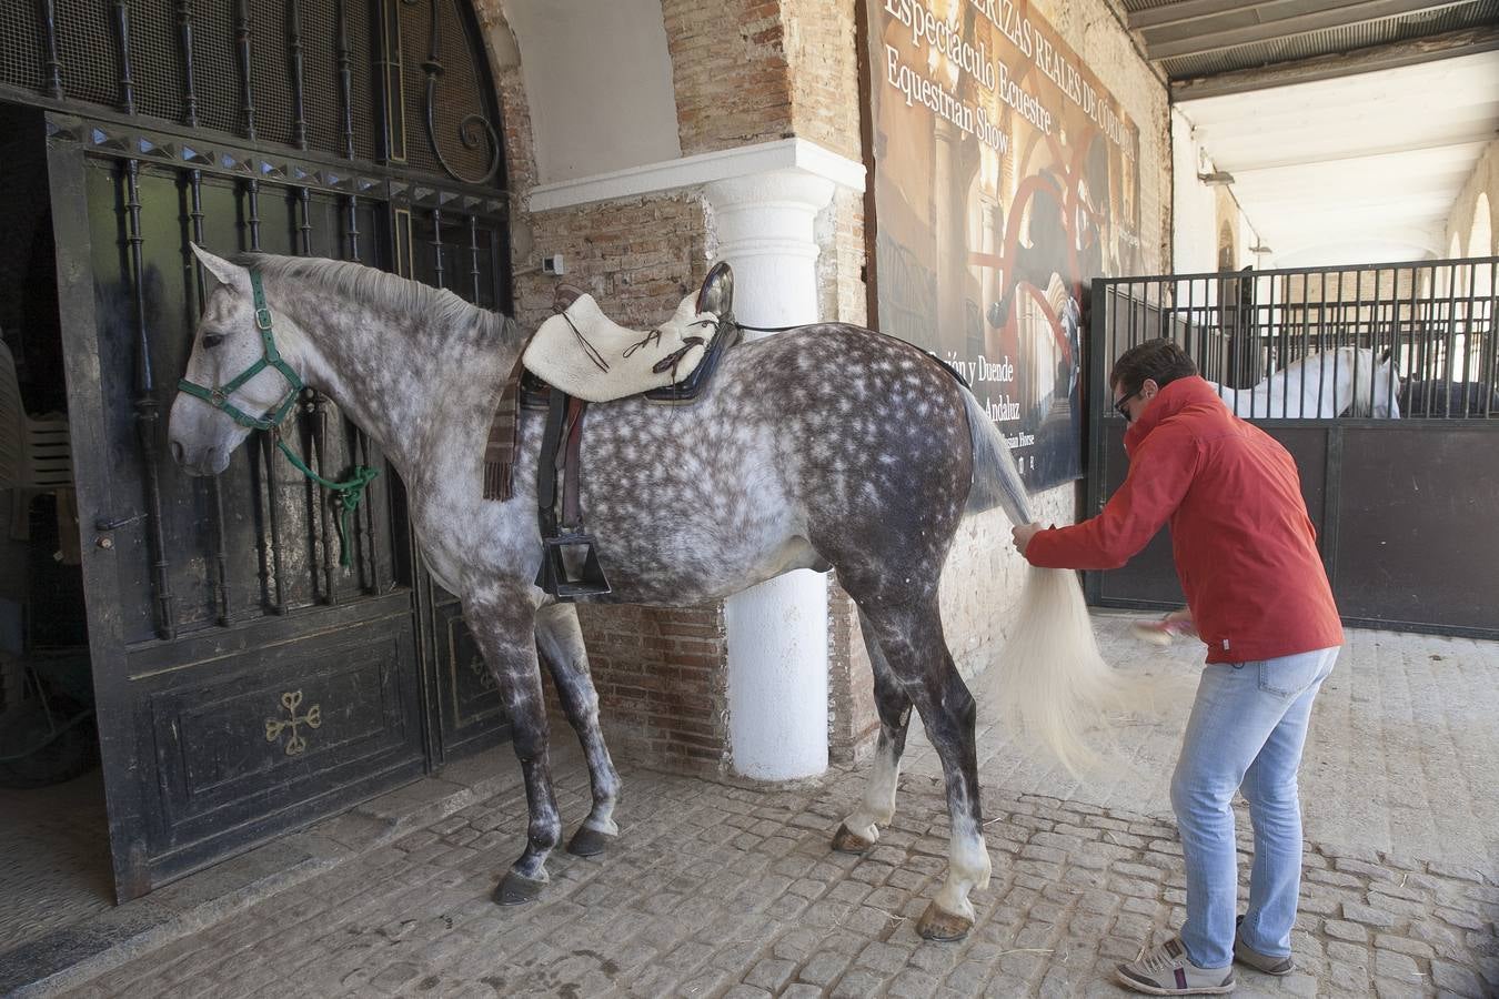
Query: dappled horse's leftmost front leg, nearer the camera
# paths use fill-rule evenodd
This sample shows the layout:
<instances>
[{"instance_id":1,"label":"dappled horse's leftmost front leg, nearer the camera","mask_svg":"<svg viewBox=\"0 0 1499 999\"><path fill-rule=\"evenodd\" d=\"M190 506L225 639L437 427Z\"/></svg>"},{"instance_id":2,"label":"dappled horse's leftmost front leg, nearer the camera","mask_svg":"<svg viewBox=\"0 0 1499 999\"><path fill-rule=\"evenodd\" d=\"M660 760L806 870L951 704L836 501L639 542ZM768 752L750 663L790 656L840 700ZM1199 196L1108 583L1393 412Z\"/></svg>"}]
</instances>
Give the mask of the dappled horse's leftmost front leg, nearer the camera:
<instances>
[{"instance_id":1,"label":"dappled horse's leftmost front leg, nearer the camera","mask_svg":"<svg viewBox=\"0 0 1499 999\"><path fill-rule=\"evenodd\" d=\"M547 761L547 708L541 698L535 643L537 611L531 593L493 587L465 598L463 617L498 681L510 717L511 746L526 782L531 812L526 849L495 890L499 905L520 905L541 894L547 882L547 855L562 836Z\"/></svg>"}]
</instances>

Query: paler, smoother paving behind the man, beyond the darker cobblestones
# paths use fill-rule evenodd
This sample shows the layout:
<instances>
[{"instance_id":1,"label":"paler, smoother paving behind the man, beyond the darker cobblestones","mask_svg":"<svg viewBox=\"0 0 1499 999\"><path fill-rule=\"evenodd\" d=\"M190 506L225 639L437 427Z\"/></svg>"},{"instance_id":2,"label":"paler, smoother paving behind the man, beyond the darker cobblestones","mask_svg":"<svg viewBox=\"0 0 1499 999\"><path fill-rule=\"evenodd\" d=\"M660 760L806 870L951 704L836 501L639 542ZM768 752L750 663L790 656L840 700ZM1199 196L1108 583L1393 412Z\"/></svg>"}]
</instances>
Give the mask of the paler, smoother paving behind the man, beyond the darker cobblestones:
<instances>
[{"instance_id":1,"label":"paler, smoother paving behind the man, beyond the darker cobblestones","mask_svg":"<svg viewBox=\"0 0 1499 999\"><path fill-rule=\"evenodd\" d=\"M1099 773L1076 779L1016 746L980 704L985 786L1171 815L1168 786L1202 668L1201 643L1162 650L1129 637L1133 616L1094 614L1108 662L1151 672L1165 693L1133 719ZM1499 872L1499 643L1348 629L1322 684L1301 767L1306 836ZM973 686L983 696L991 686ZM913 732L907 773L941 764Z\"/></svg>"}]
</instances>

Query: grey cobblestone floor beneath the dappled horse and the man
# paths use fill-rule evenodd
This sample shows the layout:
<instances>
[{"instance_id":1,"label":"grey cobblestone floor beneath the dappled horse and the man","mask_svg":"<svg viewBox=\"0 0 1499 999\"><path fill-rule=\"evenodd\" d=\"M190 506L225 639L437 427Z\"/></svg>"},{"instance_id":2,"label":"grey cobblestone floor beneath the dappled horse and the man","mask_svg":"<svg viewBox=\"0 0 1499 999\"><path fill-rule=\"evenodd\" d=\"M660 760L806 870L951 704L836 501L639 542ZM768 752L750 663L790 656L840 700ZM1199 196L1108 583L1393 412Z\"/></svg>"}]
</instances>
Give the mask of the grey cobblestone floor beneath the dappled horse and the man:
<instances>
[{"instance_id":1,"label":"grey cobblestone floor beneath the dappled horse and the man","mask_svg":"<svg viewBox=\"0 0 1499 999\"><path fill-rule=\"evenodd\" d=\"M1123 628L1115 622L1114 631ZM1423 659L1438 655L1424 652L1427 641L1453 641L1385 640L1409 664L1432 662ZM1378 732L1360 719L1388 714L1391 699L1366 698L1363 707L1349 708L1360 699L1361 656L1373 656L1372 650L1355 638L1351 662L1334 674L1348 689L1330 690L1313 722L1309 773L1318 761L1367 770L1360 758L1370 755L1390 767L1391 749L1364 744ZM1475 655L1493 658L1496 650L1480 646ZM1190 665L1184 653L1178 656ZM1390 669L1390 662L1381 668ZM1489 687L1499 686L1495 675L1487 674ZM1387 690L1397 680L1381 683L1378 689ZM1402 722L1400 710L1388 725ZM1468 710L1453 701L1448 714L1462 719ZM1462 782L1483 773L1492 782L1493 756L1469 756L1475 744L1493 738L1499 722L1489 713L1475 723L1484 726L1477 743L1447 731L1433 744L1457 747L1448 762ZM928 944L914 932L944 869L947 842L941 783L929 773L929 750L914 740L895 822L865 857L827 848L862 789L863 767L767 788L625 761L621 840L601 860L558 851L552 884L537 903L502 909L489 900L525 836L523 794L511 789L67 995L1123 995L1111 983L1114 966L1178 926L1184 903L1180 846L1162 809L1159 773L1169 774L1180 728L1174 735L1169 717L1139 728L1142 734L1126 747L1136 761L1135 776L1055 782L1066 785L1066 801L1028 792L1031 783L1045 785L1045 764L1004 743L995 728L986 729L980 759L994 879L974 893L979 921L961 944ZM1430 762L1438 756L1420 762L1427 759L1423 746L1415 749L1414 771L1394 767L1382 782L1363 786L1360 794L1378 797L1361 812L1397 806L1399 785L1421 780L1423 767L1430 767L1432 779L1451 779ZM493 759L514 767L507 750ZM586 812L588 783L576 755L571 759L559 767L558 797L576 824ZM1334 833L1357 825L1328 813L1354 807L1352 794L1313 800L1309 788L1312 842L1294 935L1297 972L1276 980L1241 969L1240 995L1499 995L1499 885L1484 860L1495 855L1499 831L1492 821L1481 825L1493 818L1484 797L1490 789L1475 788L1454 806L1471 819L1427 819L1477 839L1457 851L1480 858L1472 864L1375 849L1357 837L1318 839L1315 815L1325 815L1319 828ZM1426 788L1408 786L1403 794L1417 807L1430 798ZM1247 819L1240 819L1247 873ZM1418 824L1397 828L1385 821L1372 836L1396 846L1429 842Z\"/></svg>"}]
</instances>

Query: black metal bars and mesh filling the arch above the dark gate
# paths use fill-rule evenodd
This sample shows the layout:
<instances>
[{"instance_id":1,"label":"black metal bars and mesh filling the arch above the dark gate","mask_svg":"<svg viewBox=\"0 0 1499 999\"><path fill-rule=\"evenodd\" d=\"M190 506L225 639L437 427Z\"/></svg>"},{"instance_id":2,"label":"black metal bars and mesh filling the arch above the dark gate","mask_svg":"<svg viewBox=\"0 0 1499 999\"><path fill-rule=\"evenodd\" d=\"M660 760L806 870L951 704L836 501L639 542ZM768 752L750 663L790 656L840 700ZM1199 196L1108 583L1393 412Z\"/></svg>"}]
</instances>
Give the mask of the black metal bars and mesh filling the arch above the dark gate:
<instances>
[{"instance_id":1,"label":"black metal bars and mesh filling the arch above the dark gate","mask_svg":"<svg viewBox=\"0 0 1499 999\"><path fill-rule=\"evenodd\" d=\"M147 129L504 189L496 93L468 3L0 3L0 99Z\"/></svg>"}]
</instances>

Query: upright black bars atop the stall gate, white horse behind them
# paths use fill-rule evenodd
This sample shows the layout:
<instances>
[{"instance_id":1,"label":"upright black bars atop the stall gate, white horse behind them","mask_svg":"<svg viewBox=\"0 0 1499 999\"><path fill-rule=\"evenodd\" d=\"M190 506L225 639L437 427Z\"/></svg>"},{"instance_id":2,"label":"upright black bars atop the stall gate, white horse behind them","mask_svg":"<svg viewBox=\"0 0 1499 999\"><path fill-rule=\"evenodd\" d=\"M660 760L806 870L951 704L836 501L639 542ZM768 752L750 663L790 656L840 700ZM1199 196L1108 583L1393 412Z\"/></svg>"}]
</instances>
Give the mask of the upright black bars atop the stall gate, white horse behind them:
<instances>
[{"instance_id":1,"label":"upright black bars atop the stall gate, white horse behind them","mask_svg":"<svg viewBox=\"0 0 1499 999\"><path fill-rule=\"evenodd\" d=\"M1496 289L1499 258L1100 279L1094 385L1169 337L1252 419L1499 418Z\"/></svg>"}]
</instances>

